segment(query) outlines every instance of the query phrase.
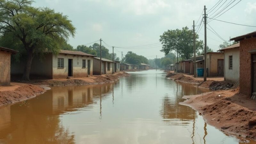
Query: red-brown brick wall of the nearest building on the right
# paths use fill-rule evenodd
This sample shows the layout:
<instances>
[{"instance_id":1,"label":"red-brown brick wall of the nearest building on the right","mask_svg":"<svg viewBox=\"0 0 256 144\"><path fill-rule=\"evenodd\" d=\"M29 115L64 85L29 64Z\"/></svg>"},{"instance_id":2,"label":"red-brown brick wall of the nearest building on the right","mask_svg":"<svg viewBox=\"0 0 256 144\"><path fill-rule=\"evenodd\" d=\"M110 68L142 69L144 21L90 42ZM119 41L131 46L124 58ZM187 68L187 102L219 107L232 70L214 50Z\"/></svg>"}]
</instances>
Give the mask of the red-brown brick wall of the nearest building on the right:
<instances>
[{"instance_id":1,"label":"red-brown brick wall of the nearest building on the right","mask_svg":"<svg viewBox=\"0 0 256 144\"><path fill-rule=\"evenodd\" d=\"M252 92L251 53L248 52L254 49L256 49L256 38L240 41L240 93L247 96L251 96Z\"/></svg>"}]
</instances>

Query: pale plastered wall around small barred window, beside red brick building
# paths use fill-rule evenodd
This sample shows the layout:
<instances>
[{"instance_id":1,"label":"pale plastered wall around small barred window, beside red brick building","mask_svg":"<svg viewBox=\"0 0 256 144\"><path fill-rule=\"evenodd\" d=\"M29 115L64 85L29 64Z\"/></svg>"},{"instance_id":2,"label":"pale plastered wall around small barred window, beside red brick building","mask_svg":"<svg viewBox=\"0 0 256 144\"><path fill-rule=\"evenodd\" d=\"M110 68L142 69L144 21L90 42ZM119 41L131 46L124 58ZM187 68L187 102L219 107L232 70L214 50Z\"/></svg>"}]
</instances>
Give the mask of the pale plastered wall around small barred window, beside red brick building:
<instances>
[{"instance_id":1,"label":"pale plastered wall around small barred window, beside red brick building","mask_svg":"<svg viewBox=\"0 0 256 144\"><path fill-rule=\"evenodd\" d=\"M229 56L233 56L233 68L229 69ZM239 58L239 48L229 49L224 51L224 67L225 80L236 83L239 81L239 67L240 67L240 58Z\"/></svg>"}]
</instances>

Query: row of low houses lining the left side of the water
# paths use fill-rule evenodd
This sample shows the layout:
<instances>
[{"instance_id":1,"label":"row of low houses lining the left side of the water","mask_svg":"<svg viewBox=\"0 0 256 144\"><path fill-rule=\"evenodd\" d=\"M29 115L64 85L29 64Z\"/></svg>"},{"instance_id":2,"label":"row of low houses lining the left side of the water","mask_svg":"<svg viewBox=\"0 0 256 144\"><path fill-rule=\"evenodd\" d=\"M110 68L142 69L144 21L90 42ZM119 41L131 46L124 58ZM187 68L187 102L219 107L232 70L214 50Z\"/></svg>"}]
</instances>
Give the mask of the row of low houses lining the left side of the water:
<instances>
[{"instance_id":1,"label":"row of low houses lining the left side of the water","mask_svg":"<svg viewBox=\"0 0 256 144\"><path fill-rule=\"evenodd\" d=\"M9 85L11 75L23 74L26 61L13 61L11 64L11 54L14 53L17 51L0 47L0 85ZM120 71L120 61L104 58L101 61L102 74L109 75ZM34 57L30 75L48 79L100 75L100 58L77 51L60 50L57 55L48 52L43 58Z\"/></svg>"}]
</instances>

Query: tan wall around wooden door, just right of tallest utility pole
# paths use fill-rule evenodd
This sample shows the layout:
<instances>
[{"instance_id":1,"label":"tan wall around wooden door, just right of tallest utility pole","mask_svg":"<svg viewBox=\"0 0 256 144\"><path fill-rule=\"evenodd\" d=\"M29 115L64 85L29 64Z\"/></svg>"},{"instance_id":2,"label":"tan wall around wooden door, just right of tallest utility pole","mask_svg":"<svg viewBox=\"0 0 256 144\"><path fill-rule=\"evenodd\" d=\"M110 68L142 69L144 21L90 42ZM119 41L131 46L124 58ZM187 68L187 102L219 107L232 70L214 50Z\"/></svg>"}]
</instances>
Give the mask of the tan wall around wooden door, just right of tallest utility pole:
<instances>
[{"instance_id":1,"label":"tan wall around wooden door, just right of tallest utility pole","mask_svg":"<svg viewBox=\"0 0 256 144\"><path fill-rule=\"evenodd\" d=\"M218 59L224 59L223 52L206 54L206 68L208 68L209 76L218 76Z\"/></svg>"}]
</instances>

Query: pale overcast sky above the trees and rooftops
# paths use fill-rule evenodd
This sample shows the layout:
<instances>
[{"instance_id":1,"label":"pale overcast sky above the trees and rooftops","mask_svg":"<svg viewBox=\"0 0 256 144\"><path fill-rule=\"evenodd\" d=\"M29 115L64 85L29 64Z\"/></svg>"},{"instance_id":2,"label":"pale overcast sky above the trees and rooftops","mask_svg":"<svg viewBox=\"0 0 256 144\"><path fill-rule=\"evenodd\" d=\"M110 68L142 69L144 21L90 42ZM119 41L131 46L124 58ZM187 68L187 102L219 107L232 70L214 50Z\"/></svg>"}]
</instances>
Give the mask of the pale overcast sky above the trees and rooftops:
<instances>
[{"instance_id":1,"label":"pale overcast sky above the trees and rooftops","mask_svg":"<svg viewBox=\"0 0 256 144\"><path fill-rule=\"evenodd\" d=\"M223 6L229 1L231 0L227 0ZM230 7L238 1L235 0ZM107 44L117 47L159 43L159 36L164 31L181 29L185 26L192 28L193 20L196 22L199 19L204 5L210 10L217 2L219 0L36 0L33 5L49 7L56 12L68 15L76 27L76 35L69 39L69 43L76 48L77 45L88 44L100 38ZM211 17L215 10L208 17ZM218 11L220 10L221 8ZM217 19L256 26L255 15L255 0L242 0ZM255 27L233 25L216 20L209 22L209 25L225 40L256 30ZM203 33L204 28L199 33L202 40L204 40ZM218 45L223 41L209 30L207 30L207 36L208 46L214 51L218 50ZM112 53L112 48L107 48ZM116 48L115 53L121 58L121 51L124 55L128 51L133 51L153 59L156 55L164 56L160 49L161 45L156 44L148 49Z\"/></svg>"}]
</instances>

